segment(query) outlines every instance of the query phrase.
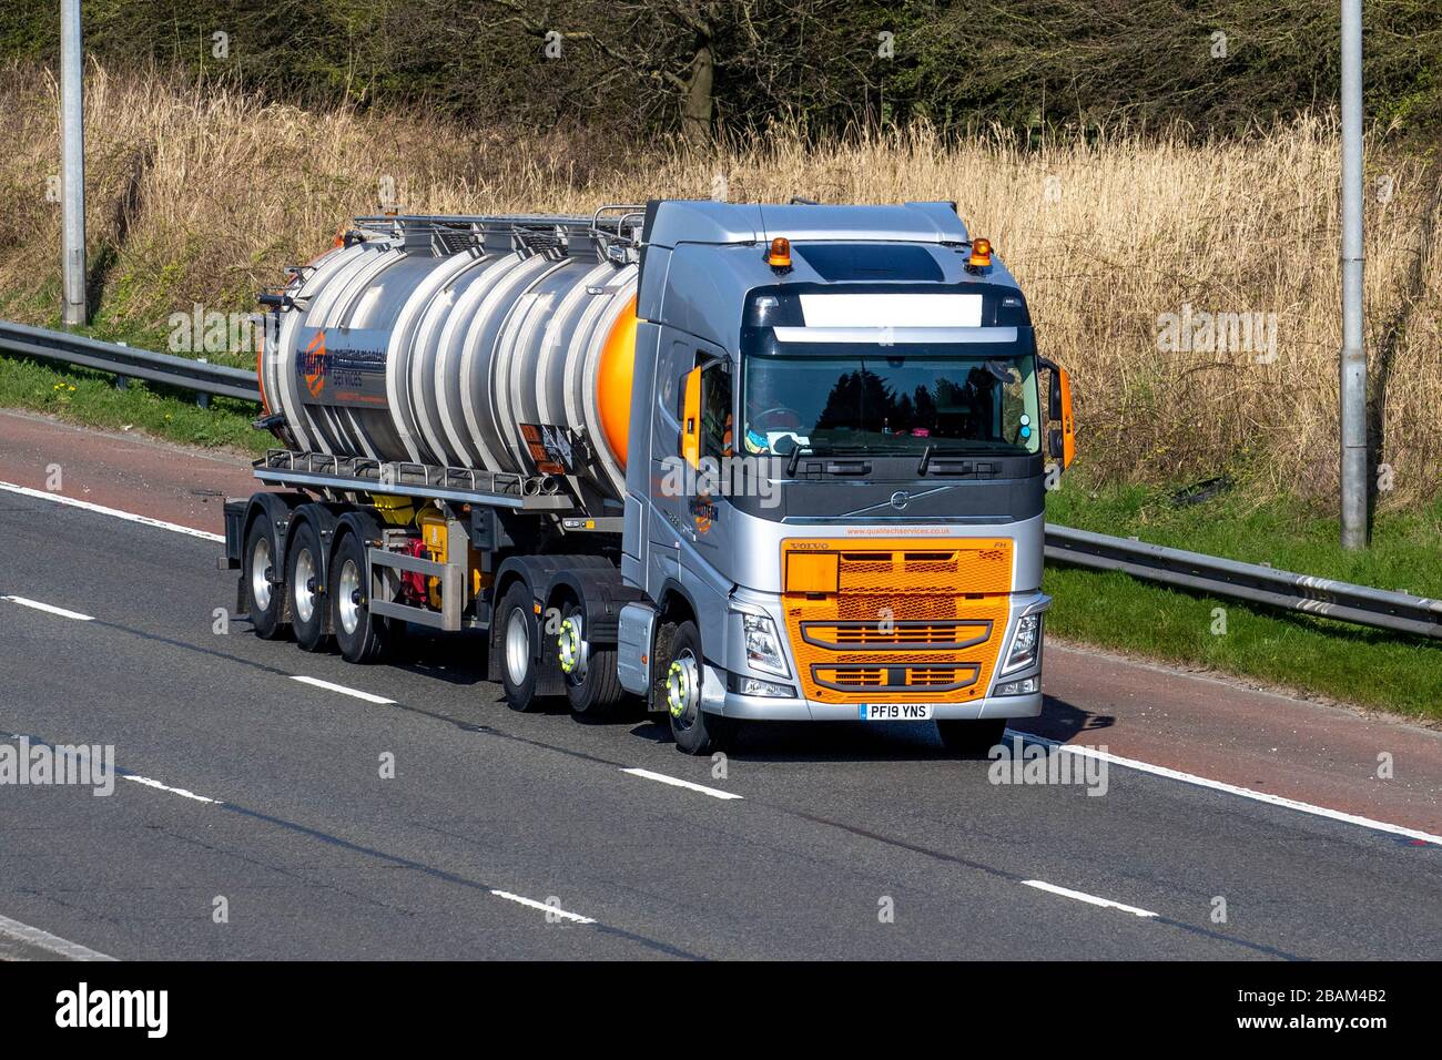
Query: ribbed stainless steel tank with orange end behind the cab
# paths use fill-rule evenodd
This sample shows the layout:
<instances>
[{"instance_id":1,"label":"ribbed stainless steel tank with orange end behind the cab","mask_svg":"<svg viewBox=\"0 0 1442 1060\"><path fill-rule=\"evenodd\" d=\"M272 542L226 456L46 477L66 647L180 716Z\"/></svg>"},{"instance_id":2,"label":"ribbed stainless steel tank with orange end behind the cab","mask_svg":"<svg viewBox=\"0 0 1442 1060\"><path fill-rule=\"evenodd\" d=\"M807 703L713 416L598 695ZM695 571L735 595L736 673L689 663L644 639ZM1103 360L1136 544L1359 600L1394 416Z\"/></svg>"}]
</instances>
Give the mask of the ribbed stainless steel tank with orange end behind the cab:
<instances>
[{"instance_id":1,"label":"ribbed stainless steel tank with orange end behind the cab","mask_svg":"<svg viewBox=\"0 0 1442 1060\"><path fill-rule=\"evenodd\" d=\"M358 224L271 297L260 378L291 444L554 473L544 440L622 496L640 213Z\"/></svg>"}]
</instances>

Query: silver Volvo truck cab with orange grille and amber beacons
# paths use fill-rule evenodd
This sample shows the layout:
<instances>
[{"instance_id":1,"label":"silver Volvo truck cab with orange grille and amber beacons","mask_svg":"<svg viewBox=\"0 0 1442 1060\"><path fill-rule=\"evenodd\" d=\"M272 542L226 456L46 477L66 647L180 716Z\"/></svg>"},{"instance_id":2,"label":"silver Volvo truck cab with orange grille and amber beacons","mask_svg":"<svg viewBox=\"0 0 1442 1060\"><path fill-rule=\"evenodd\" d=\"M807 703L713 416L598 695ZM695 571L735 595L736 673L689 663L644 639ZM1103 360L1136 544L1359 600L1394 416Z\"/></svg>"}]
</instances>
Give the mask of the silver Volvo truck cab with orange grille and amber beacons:
<instances>
[{"instance_id":1,"label":"silver Volvo truck cab with orange grille and amber beacons","mask_svg":"<svg viewBox=\"0 0 1442 1060\"><path fill-rule=\"evenodd\" d=\"M617 666L682 750L1041 711L1070 388L952 203L652 202L636 314Z\"/></svg>"}]
</instances>

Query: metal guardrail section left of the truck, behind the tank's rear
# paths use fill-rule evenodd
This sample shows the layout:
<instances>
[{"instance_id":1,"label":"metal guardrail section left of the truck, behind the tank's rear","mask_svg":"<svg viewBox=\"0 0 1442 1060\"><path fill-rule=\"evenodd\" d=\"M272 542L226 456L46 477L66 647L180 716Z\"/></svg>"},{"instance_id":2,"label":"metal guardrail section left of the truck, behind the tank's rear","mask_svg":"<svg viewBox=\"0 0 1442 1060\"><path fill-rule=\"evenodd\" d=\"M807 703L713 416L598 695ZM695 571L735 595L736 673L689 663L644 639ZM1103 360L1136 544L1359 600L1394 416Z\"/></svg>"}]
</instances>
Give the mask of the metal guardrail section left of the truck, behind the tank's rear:
<instances>
[{"instance_id":1,"label":"metal guardrail section left of the truck, behind the tank's rear","mask_svg":"<svg viewBox=\"0 0 1442 1060\"><path fill-rule=\"evenodd\" d=\"M242 368L208 365L203 361L153 353L149 349L101 342L84 335L27 327L9 320L0 320L0 350L114 372L123 379L147 379L196 394L255 402L261 399L255 374Z\"/></svg>"}]
</instances>

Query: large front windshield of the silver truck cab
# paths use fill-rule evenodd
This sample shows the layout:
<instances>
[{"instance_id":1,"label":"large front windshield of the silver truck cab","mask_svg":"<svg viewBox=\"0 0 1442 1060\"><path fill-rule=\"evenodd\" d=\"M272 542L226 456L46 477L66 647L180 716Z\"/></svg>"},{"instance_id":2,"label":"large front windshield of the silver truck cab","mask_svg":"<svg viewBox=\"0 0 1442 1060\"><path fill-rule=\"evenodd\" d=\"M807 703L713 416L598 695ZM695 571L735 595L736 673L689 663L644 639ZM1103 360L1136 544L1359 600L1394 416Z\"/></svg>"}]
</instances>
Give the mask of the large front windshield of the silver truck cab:
<instances>
[{"instance_id":1,"label":"large front windshield of the silver truck cab","mask_svg":"<svg viewBox=\"0 0 1442 1060\"><path fill-rule=\"evenodd\" d=\"M1017 346L806 345L750 356L743 443L881 453L1035 453L1037 359Z\"/></svg>"}]
</instances>

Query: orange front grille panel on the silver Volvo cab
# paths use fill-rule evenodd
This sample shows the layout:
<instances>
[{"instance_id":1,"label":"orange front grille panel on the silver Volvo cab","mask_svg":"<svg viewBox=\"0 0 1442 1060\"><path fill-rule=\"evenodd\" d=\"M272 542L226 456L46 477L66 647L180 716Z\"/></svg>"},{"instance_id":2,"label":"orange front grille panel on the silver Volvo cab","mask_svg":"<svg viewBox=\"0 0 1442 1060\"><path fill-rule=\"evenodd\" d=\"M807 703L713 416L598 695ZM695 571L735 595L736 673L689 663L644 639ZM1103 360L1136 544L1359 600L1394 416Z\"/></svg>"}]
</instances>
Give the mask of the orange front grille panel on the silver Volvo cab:
<instances>
[{"instance_id":1,"label":"orange front grille panel on the silver Volvo cab","mask_svg":"<svg viewBox=\"0 0 1442 1060\"><path fill-rule=\"evenodd\" d=\"M1007 539L792 539L783 606L802 688L820 702L985 694L1007 629Z\"/></svg>"}]
</instances>

